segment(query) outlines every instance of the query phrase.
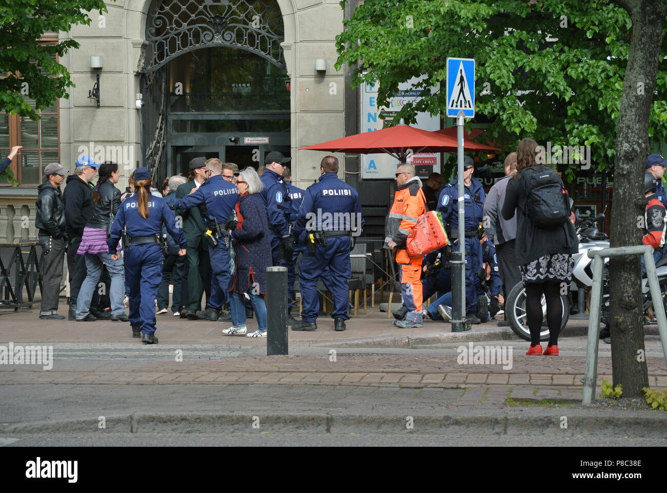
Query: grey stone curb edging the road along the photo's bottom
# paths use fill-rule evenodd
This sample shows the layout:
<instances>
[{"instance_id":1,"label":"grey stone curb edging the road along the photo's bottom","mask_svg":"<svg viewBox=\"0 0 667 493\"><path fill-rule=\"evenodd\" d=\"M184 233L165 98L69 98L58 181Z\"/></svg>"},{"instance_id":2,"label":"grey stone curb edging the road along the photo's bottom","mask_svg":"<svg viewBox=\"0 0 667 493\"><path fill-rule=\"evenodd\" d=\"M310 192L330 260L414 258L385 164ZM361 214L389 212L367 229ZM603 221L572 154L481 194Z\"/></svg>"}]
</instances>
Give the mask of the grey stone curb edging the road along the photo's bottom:
<instances>
[{"instance_id":1,"label":"grey stone curb edging the road along the photo's bottom","mask_svg":"<svg viewBox=\"0 0 667 493\"><path fill-rule=\"evenodd\" d=\"M563 415L563 416L562 416ZM358 414L147 414L108 417L105 428L99 420L31 422L0 425L0 436L41 433L270 433L307 430L315 433L350 434L450 434L492 432L512 436L626 436L667 439L666 420L661 416L634 413L624 417L613 412L554 409L551 416L521 416L512 409L502 416L364 416ZM567 428L562 428L566 419ZM254 425L254 426L253 426ZM409 426L412 425L412 428Z\"/></svg>"}]
</instances>

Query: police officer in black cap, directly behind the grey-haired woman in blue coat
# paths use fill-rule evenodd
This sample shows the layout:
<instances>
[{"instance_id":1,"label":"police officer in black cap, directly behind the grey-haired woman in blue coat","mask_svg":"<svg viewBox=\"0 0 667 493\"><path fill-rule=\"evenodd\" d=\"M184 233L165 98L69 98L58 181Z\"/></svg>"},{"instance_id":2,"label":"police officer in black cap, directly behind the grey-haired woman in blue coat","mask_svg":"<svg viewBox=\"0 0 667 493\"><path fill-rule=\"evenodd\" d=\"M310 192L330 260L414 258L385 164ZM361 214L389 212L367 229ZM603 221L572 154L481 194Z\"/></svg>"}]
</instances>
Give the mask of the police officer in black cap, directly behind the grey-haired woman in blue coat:
<instances>
[{"instance_id":1,"label":"police officer in black cap, directly behind the grey-haired woman in blue coat","mask_svg":"<svg viewBox=\"0 0 667 493\"><path fill-rule=\"evenodd\" d=\"M289 189L283 180L285 164L289 161L291 158L285 158L280 152L269 152L264 158L266 169L260 177L264 184L260 194L266 206L271 231L271 257L273 265L282 266L291 260L294 250L289 234L289 215L292 208Z\"/></svg>"}]
</instances>

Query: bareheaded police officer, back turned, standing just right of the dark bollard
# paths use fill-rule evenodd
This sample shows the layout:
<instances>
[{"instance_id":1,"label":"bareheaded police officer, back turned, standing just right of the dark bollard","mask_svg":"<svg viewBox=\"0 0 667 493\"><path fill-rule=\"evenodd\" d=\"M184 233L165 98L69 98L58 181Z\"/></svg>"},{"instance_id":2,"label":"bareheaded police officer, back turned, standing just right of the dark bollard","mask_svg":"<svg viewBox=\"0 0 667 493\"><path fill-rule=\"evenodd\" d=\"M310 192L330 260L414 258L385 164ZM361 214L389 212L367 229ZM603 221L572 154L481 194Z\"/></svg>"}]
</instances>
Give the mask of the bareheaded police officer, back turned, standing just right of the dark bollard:
<instances>
[{"instance_id":1,"label":"bareheaded police officer, back turned, standing just right of the dark bollard","mask_svg":"<svg viewBox=\"0 0 667 493\"><path fill-rule=\"evenodd\" d=\"M320 164L319 182L305 190L296 220L295 235L306 251L299 266L303 311L293 331L317 330L317 277L327 267L333 295L331 313L336 331L344 331L349 319L348 279L352 277L350 250L352 235L364 227L362 205L357 191L338 179L338 159L326 156Z\"/></svg>"}]
</instances>

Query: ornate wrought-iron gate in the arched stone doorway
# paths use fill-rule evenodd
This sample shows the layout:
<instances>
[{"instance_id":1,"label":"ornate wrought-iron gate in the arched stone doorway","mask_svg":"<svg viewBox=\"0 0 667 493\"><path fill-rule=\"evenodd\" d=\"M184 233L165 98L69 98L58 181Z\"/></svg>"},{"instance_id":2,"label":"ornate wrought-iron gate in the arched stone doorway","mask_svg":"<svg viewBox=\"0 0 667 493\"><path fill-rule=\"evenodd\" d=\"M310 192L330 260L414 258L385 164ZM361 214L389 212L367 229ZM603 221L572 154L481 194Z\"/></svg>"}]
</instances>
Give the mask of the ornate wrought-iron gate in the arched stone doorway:
<instances>
[{"instance_id":1,"label":"ornate wrought-iron gate in the arched stone doorway","mask_svg":"<svg viewBox=\"0 0 667 493\"><path fill-rule=\"evenodd\" d=\"M141 94L142 154L158 180L167 173L167 63L187 51L226 46L255 53L285 69L283 19L276 0L155 0L146 23Z\"/></svg>"}]
</instances>

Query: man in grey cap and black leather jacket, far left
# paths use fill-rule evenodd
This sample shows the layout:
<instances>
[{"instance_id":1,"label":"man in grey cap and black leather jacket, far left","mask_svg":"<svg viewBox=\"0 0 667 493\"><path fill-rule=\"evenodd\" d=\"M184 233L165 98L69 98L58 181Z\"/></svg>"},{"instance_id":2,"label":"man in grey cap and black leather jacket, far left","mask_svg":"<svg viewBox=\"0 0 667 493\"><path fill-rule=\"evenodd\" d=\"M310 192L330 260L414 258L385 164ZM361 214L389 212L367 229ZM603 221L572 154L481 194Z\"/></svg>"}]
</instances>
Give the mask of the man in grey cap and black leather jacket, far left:
<instances>
[{"instance_id":1,"label":"man in grey cap and black leather jacket, far left","mask_svg":"<svg viewBox=\"0 0 667 493\"><path fill-rule=\"evenodd\" d=\"M47 181L37 190L39 196L35 207L35 227L39 229L42 247L42 303L40 319L64 319L58 315L60 282L63 279L65 259L65 207L60 184L65 181L67 170L57 162L44 169Z\"/></svg>"}]
</instances>

